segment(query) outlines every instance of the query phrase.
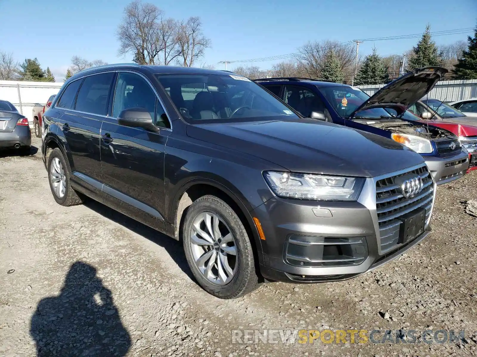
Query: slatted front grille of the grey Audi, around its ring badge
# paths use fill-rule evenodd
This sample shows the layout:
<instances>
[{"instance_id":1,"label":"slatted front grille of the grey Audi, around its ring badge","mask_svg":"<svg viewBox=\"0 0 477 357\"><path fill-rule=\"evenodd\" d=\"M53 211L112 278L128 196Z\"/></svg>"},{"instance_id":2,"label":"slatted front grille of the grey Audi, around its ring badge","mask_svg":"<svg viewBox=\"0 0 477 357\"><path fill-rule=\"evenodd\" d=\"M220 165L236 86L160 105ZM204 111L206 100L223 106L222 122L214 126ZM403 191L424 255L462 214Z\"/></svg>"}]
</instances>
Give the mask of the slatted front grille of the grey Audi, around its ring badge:
<instances>
[{"instance_id":1,"label":"slatted front grille of the grey Audi, around its ring badge","mask_svg":"<svg viewBox=\"0 0 477 357\"><path fill-rule=\"evenodd\" d=\"M420 176L423 180L421 192L412 198L404 198L401 188L396 183L397 178L407 175ZM426 166L382 178L376 182L376 213L382 252L390 251L398 244L399 228L402 223L399 218L402 215L417 208L425 208L425 218L428 222L433 195L433 180Z\"/></svg>"}]
</instances>

